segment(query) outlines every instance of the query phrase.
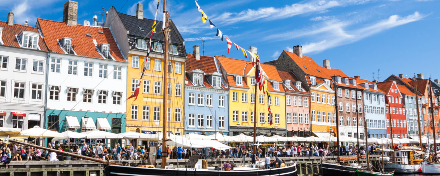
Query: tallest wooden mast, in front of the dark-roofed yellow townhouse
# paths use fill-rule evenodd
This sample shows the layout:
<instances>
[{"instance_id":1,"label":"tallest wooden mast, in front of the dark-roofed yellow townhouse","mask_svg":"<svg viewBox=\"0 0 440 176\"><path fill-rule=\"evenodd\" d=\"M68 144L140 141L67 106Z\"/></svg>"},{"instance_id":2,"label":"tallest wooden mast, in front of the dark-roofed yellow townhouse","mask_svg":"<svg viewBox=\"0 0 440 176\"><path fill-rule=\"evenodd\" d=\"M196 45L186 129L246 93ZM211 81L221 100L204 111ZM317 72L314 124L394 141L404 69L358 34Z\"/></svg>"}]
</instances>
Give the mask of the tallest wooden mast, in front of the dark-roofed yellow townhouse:
<instances>
[{"instance_id":1,"label":"tallest wooden mast, in front of the dark-roofed yellow townhouse","mask_svg":"<svg viewBox=\"0 0 440 176\"><path fill-rule=\"evenodd\" d=\"M163 28L162 28L162 32L164 35L164 74L163 74L163 107L164 109L162 110L162 117L163 117L163 122L162 122L162 153L161 153L161 157L162 157L162 169L165 169L166 166L166 159L167 159L167 151L166 151L166 133L167 133L167 100L168 100L168 77L167 77L167 73L168 73L168 17L169 14L167 11L165 11L165 6L166 6L166 0L164 0L164 9L163 9L163 15L164 15L164 20L163 20Z\"/></svg>"}]
</instances>

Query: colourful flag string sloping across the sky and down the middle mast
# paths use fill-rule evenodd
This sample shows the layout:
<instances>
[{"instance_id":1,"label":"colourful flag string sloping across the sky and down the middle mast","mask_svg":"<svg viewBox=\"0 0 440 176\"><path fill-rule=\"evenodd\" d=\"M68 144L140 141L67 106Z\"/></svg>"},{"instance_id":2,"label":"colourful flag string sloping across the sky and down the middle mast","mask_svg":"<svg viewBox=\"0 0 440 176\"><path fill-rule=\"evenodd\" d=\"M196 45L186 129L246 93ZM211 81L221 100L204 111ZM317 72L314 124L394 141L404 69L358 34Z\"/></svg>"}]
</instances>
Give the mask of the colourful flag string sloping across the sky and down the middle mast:
<instances>
[{"instance_id":1,"label":"colourful flag string sloping across the sky and down the middle mast","mask_svg":"<svg viewBox=\"0 0 440 176\"><path fill-rule=\"evenodd\" d=\"M264 74L265 73L264 73L263 68L261 67L261 62L260 62L260 58L259 58L258 54L253 53L251 51L248 51L248 50L238 46L238 44L236 44L235 42L232 42L231 39L229 39L227 36L225 36L220 31L220 29L216 25L214 25L214 23L211 21L211 19L208 18L208 16L205 14L205 12L200 8L200 5L198 5L197 0L194 0L194 2L197 7L197 10L202 13L202 22L205 23L206 20L208 20L210 29L213 29L214 27L217 28L216 37L217 36L220 37L220 39L222 41L224 38L226 38L227 54L228 55L229 55L229 51L231 50L232 44L234 44L235 48L237 48L237 51L242 50L243 56L245 56L245 58L248 58L248 53L249 53L249 57L251 57L251 59L252 59L252 66L255 67L255 69L257 69L257 72L256 72L257 75L255 75L255 78L256 78L256 81L258 84L258 88L260 89L260 91L263 91L264 94L268 95L268 100L269 100L269 97L271 97L271 95L269 94L267 86L265 85L265 83L266 83L264 81ZM272 112L271 112L271 105L270 104L269 104L268 110L269 110L269 114L270 114L269 122L270 122L270 125L272 125Z\"/></svg>"}]
</instances>

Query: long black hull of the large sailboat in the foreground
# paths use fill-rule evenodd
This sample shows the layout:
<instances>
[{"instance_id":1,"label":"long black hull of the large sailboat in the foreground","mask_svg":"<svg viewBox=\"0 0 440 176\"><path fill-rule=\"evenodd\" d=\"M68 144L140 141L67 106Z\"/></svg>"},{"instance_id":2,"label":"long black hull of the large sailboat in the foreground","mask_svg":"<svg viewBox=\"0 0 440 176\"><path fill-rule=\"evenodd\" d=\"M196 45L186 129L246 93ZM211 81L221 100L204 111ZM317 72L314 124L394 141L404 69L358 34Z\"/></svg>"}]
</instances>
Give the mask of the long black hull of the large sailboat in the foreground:
<instances>
[{"instance_id":1,"label":"long black hull of the large sailboat in the foreground","mask_svg":"<svg viewBox=\"0 0 440 176\"><path fill-rule=\"evenodd\" d=\"M282 168L241 171L219 171L189 168L158 169L109 165L107 176L295 176L296 172L296 163Z\"/></svg>"}]
</instances>

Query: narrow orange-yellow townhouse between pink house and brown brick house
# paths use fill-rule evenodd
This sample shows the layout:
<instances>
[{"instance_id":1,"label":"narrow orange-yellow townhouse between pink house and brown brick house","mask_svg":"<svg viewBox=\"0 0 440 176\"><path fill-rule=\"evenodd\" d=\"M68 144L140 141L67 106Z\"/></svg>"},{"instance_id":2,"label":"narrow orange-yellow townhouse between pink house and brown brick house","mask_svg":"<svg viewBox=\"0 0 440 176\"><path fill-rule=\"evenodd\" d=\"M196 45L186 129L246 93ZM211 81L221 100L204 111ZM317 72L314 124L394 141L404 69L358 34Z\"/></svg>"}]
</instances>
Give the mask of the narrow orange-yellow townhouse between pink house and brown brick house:
<instances>
[{"instance_id":1,"label":"narrow orange-yellow townhouse between pink house and brown brick house","mask_svg":"<svg viewBox=\"0 0 440 176\"><path fill-rule=\"evenodd\" d=\"M319 66L312 58L302 55L301 45L294 46L293 52L282 51L278 59L266 63L276 66L279 71L291 71L294 75L298 75L298 80L310 92L312 133L327 139L330 139L330 133L335 136L337 134L335 94L332 78L327 74L327 69Z\"/></svg>"}]
</instances>

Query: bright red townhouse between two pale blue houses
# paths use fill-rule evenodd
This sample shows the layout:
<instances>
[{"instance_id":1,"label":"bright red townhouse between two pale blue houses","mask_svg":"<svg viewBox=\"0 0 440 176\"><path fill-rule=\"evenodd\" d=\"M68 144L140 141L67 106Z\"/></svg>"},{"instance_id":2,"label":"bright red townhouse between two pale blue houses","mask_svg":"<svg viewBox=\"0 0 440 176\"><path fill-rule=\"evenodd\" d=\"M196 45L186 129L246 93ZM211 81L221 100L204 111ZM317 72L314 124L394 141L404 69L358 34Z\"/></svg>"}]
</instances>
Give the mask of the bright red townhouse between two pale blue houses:
<instances>
[{"instance_id":1,"label":"bright red townhouse between two pale blue houses","mask_svg":"<svg viewBox=\"0 0 440 176\"><path fill-rule=\"evenodd\" d=\"M396 81L383 81L377 84L378 88L385 92L387 137L407 138L406 110L402 103L403 96L397 87ZM390 136L391 132L393 136Z\"/></svg>"}]
</instances>

